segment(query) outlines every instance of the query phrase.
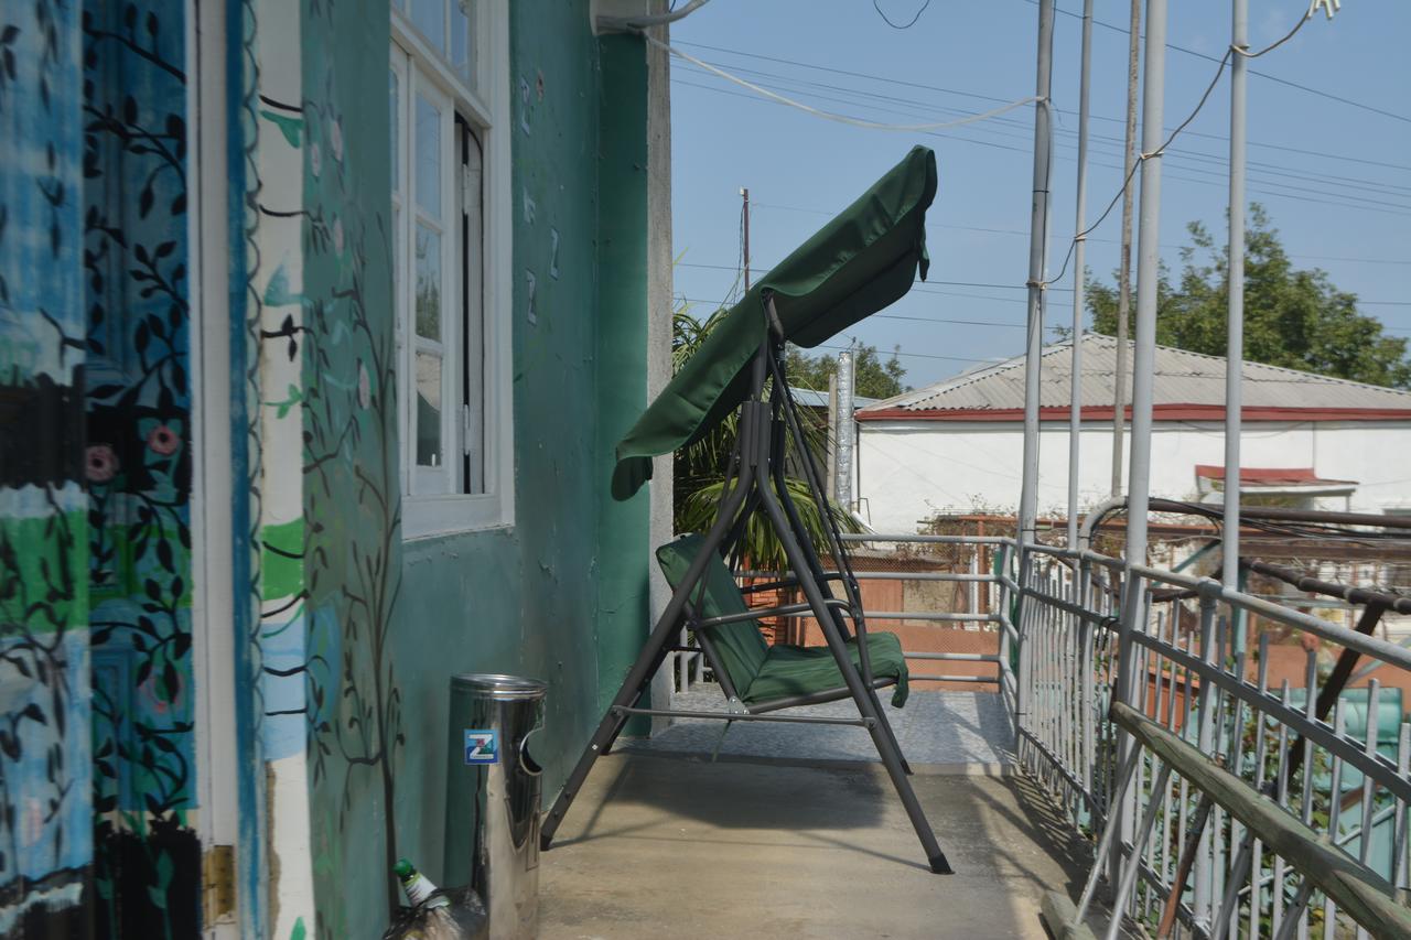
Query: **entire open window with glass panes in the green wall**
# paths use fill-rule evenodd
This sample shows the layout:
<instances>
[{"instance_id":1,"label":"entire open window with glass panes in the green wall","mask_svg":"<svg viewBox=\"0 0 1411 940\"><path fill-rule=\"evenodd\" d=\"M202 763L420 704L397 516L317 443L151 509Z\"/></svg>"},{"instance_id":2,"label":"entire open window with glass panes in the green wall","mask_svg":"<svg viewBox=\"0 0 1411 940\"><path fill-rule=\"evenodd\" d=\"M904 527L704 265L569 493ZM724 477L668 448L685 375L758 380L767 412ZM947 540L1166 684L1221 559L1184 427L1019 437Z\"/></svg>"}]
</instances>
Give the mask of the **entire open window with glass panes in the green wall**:
<instances>
[{"instance_id":1,"label":"entire open window with glass panes in the green wall","mask_svg":"<svg viewBox=\"0 0 1411 940\"><path fill-rule=\"evenodd\" d=\"M495 316L487 303L487 291L508 285L509 261L504 251L487 257L487 246L508 233L490 240L485 198L508 185L508 143L494 135L508 126L509 83L481 73L507 61L485 42L495 35L504 47L508 14L474 0L392 6L392 289L404 534L416 538L502 524L512 512L508 287ZM481 96L477 79L498 97ZM499 164L487 157L491 140ZM491 277L491 265L504 270Z\"/></svg>"}]
</instances>

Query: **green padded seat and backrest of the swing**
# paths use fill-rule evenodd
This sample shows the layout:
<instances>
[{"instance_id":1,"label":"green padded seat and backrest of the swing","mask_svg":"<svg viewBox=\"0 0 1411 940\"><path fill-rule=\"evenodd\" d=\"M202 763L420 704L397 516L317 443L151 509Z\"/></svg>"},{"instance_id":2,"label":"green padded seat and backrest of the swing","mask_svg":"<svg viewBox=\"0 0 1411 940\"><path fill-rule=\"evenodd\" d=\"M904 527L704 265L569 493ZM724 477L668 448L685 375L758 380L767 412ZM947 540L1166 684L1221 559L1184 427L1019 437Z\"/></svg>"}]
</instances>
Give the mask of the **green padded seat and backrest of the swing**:
<instances>
[{"instance_id":1,"label":"green padded seat and backrest of the swing","mask_svg":"<svg viewBox=\"0 0 1411 940\"><path fill-rule=\"evenodd\" d=\"M656 549L662 573L673 589L686 577L686 570L701 550L704 541L701 535L686 535ZM749 605L739 593L735 577L718 555L714 552L711 555L706 576L701 579L703 587L691 596L696 614L711 618L748 613ZM837 699L849 694L838 661L827 646L770 646L765 642L759 621L753 618L713 627L710 637L721 666L729 673L731 683L746 706L821 693L837 693ZM866 637L872 679L896 683L892 704L900 709L906 704L907 696L902 641L896 634L888 632L868 631ZM848 655L852 665L861 668L856 638L848 641Z\"/></svg>"}]
</instances>

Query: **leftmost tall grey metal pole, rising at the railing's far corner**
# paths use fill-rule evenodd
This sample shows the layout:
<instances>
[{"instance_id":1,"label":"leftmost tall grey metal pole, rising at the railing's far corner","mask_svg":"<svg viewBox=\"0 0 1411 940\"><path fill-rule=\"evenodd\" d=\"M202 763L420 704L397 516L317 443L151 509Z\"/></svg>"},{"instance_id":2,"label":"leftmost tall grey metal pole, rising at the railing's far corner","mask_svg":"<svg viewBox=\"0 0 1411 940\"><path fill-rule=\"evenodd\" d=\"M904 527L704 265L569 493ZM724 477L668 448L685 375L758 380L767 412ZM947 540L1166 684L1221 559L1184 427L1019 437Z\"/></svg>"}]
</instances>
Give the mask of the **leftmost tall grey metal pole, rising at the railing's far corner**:
<instances>
[{"instance_id":1,"label":"leftmost tall grey metal pole, rising at the railing's far corner","mask_svg":"<svg viewBox=\"0 0 1411 940\"><path fill-rule=\"evenodd\" d=\"M1019 542L1037 539L1038 395L1044 344L1044 267L1048 250L1048 174L1053 169L1054 0L1038 0L1038 75L1034 80L1034 189L1029 217L1029 322L1024 344L1024 463L1019 487Z\"/></svg>"}]
</instances>

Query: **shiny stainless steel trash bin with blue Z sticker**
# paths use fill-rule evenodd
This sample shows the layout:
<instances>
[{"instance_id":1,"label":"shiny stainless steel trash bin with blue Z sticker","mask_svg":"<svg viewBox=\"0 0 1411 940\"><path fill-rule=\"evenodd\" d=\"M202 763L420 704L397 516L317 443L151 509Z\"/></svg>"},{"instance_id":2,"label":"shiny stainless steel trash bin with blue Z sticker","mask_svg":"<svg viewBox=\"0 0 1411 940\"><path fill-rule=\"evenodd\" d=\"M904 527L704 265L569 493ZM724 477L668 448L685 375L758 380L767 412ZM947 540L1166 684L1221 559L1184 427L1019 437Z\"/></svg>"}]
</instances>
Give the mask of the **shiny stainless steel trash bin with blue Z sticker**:
<instances>
[{"instance_id":1,"label":"shiny stainless steel trash bin with blue Z sticker","mask_svg":"<svg viewBox=\"0 0 1411 940\"><path fill-rule=\"evenodd\" d=\"M491 940L539 932L539 764L547 683L466 673L450 680L444 884L471 885Z\"/></svg>"}]
</instances>

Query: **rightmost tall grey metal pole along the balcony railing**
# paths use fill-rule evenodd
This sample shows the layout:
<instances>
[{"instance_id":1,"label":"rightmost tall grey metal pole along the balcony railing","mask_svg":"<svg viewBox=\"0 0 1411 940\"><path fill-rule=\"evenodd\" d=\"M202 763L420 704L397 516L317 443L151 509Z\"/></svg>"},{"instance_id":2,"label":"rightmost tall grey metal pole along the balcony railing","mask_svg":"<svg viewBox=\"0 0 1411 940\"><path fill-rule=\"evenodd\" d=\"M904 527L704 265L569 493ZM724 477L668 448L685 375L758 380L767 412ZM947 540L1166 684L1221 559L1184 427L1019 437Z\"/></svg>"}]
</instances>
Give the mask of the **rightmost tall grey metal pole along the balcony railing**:
<instances>
[{"instance_id":1,"label":"rightmost tall grey metal pole along the balcony railing","mask_svg":"<svg viewBox=\"0 0 1411 940\"><path fill-rule=\"evenodd\" d=\"M1245 49L1249 48L1249 0L1233 0L1230 16L1230 205L1229 205L1229 309L1225 340L1225 563L1221 580L1239 587L1239 438L1245 373ZM1245 651L1245 617L1233 614L1235 652Z\"/></svg>"}]
</instances>

